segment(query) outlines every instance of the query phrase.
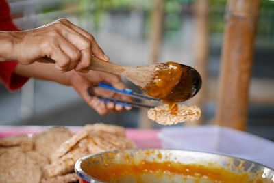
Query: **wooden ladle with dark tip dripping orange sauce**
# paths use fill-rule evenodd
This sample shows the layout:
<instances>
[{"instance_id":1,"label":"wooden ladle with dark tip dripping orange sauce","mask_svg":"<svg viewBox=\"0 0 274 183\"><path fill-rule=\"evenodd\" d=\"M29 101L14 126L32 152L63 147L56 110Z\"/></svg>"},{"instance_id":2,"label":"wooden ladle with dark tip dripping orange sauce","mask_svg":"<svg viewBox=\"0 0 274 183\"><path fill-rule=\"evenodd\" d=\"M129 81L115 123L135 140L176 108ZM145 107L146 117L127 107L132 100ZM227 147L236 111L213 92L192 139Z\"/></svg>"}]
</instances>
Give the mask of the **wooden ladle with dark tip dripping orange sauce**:
<instances>
[{"instance_id":1,"label":"wooden ladle with dark tip dripping orange sauce","mask_svg":"<svg viewBox=\"0 0 274 183\"><path fill-rule=\"evenodd\" d=\"M146 66L121 66L92 57L88 69L123 76L145 94L165 103L184 102L201 88L201 76L197 70L171 61Z\"/></svg>"}]
</instances>

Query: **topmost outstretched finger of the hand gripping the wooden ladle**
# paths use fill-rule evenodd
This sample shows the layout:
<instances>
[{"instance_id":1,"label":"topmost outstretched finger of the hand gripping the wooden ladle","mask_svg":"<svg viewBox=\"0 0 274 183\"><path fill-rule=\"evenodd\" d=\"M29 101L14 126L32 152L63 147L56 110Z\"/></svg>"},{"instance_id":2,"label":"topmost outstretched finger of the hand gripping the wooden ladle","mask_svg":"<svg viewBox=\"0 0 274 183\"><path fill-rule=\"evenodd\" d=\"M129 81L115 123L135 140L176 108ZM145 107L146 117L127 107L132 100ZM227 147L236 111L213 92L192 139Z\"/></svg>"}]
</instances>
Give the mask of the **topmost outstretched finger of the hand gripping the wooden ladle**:
<instances>
[{"instance_id":1,"label":"topmost outstretched finger of the hand gripping the wooden ladle","mask_svg":"<svg viewBox=\"0 0 274 183\"><path fill-rule=\"evenodd\" d=\"M109 57L105 55L105 53L103 53L103 50L100 48L100 46L95 41L95 38L90 33L88 33L87 31L84 31L84 29L81 29L80 27L77 27L76 25L73 25L73 23L71 23L67 19L61 18L59 19L59 21L63 23L64 25L66 25L67 27L70 27L74 31L77 31L78 33L88 38L88 40L90 40L92 45L91 46L92 54L95 55L95 57L98 57L99 59L103 59L105 61L109 60Z\"/></svg>"}]
</instances>

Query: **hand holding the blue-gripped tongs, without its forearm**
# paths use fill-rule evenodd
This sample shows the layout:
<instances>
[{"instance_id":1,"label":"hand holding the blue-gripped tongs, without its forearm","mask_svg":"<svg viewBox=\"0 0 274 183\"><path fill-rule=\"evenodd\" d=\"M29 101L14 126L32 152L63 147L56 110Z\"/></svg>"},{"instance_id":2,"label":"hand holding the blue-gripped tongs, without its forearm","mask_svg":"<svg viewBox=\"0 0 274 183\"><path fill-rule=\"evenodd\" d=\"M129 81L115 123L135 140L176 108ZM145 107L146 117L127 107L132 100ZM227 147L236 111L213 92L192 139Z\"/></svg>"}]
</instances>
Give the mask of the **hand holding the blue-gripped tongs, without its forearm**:
<instances>
[{"instance_id":1,"label":"hand holding the blue-gripped tongs, without its forearm","mask_svg":"<svg viewBox=\"0 0 274 183\"><path fill-rule=\"evenodd\" d=\"M122 107L119 104L115 105L113 102L101 102L98 98L89 96L87 92L88 87L90 87L91 85L97 86L99 83L112 85L116 89L125 89L126 87L119 76L93 70L90 70L86 74L72 71L69 79L69 85L72 85L78 92L79 96L81 96L90 105L90 107L95 109L95 111L97 111L100 115L106 115L108 111L115 113L116 111L131 109L131 107ZM94 93L95 95L98 94L100 96L105 96L109 98L117 98L132 101L132 98L130 98L129 96L117 94L115 92L110 92L106 89L95 88Z\"/></svg>"}]
</instances>

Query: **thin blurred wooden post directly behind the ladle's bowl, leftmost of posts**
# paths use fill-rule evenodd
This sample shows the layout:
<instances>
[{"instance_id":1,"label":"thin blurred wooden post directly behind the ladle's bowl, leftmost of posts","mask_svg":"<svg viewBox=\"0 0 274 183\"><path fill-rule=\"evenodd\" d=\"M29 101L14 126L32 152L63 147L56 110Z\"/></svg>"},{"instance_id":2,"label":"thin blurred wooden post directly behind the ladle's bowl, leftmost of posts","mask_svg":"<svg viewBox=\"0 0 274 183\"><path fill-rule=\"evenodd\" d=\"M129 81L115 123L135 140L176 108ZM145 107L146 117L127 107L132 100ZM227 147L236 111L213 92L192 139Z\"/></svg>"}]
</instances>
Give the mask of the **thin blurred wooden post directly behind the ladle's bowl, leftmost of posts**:
<instances>
[{"instance_id":1,"label":"thin blurred wooden post directly behind the ladle's bowl, leftmost of posts","mask_svg":"<svg viewBox=\"0 0 274 183\"><path fill-rule=\"evenodd\" d=\"M155 6L153 8L151 17L151 32L150 32L150 64L158 62L160 57L160 48L162 43L162 28L164 23L164 2L165 0L154 0ZM152 128L153 122L147 118L147 109L140 111L140 128Z\"/></svg>"}]
</instances>

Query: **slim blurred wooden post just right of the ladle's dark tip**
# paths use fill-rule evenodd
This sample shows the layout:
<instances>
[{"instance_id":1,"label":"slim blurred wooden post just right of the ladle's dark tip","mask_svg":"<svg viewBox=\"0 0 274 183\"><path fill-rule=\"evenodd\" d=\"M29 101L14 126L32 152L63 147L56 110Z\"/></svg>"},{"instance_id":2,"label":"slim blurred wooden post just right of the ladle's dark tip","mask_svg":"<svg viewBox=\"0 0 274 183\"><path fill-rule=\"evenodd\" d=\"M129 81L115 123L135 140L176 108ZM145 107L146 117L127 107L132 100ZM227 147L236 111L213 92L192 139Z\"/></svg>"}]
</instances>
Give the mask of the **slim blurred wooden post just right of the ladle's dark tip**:
<instances>
[{"instance_id":1,"label":"slim blurred wooden post just right of the ladle's dark tip","mask_svg":"<svg viewBox=\"0 0 274 183\"><path fill-rule=\"evenodd\" d=\"M203 87L192 99L192 104L201 107L203 111L203 102L206 98L206 83L207 83L207 61L208 61L208 37L209 37L209 8L210 0L197 0L195 3L195 42L193 48L195 69L201 74ZM202 112L203 113L203 112ZM201 118L197 122L189 122L186 125L198 125L203 121Z\"/></svg>"}]
</instances>

